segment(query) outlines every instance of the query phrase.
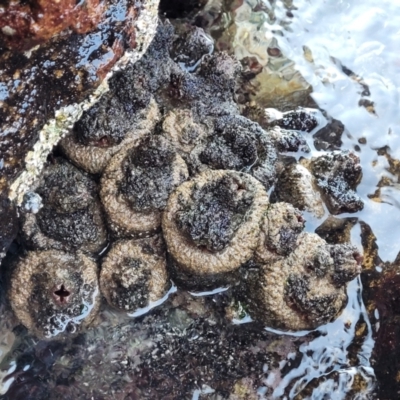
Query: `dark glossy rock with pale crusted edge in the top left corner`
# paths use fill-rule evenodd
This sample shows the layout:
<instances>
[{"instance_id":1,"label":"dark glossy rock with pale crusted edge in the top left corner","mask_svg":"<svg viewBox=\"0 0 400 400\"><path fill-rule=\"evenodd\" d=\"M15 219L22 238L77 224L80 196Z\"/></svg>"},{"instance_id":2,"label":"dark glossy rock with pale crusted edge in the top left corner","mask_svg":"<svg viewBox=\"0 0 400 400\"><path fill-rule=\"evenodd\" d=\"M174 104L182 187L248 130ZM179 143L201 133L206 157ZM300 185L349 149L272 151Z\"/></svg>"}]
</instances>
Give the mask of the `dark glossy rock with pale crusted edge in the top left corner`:
<instances>
[{"instance_id":1,"label":"dark glossy rock with pale crusted edge in the top left corner","mask_svg":"<svg viewBox=\"0 0 400 400\"><path fill-rule=\"evenodd\" d=\"M93 0L85 6L69 1L63 7L50 3L13 2L0 13L3 31L13 33L3 32L3 37L18 46L47 40L63 30L24 53L1 53L0 189L10 186L10 196L18 202L61 135L108 90L112 71L140 58L157 23L157 0L109 0L99 5ZM17 10L13 11L16 18L10 20L7 10L11 8ZM45 10L42 16L41 8ZM19 18L25 9L31 9L32 19ZM54 20L54 15L67 17ZM22 31L11 26L14 23ZM27 42L20 40L20 34Z\"/></svg>"}]
</instances>

